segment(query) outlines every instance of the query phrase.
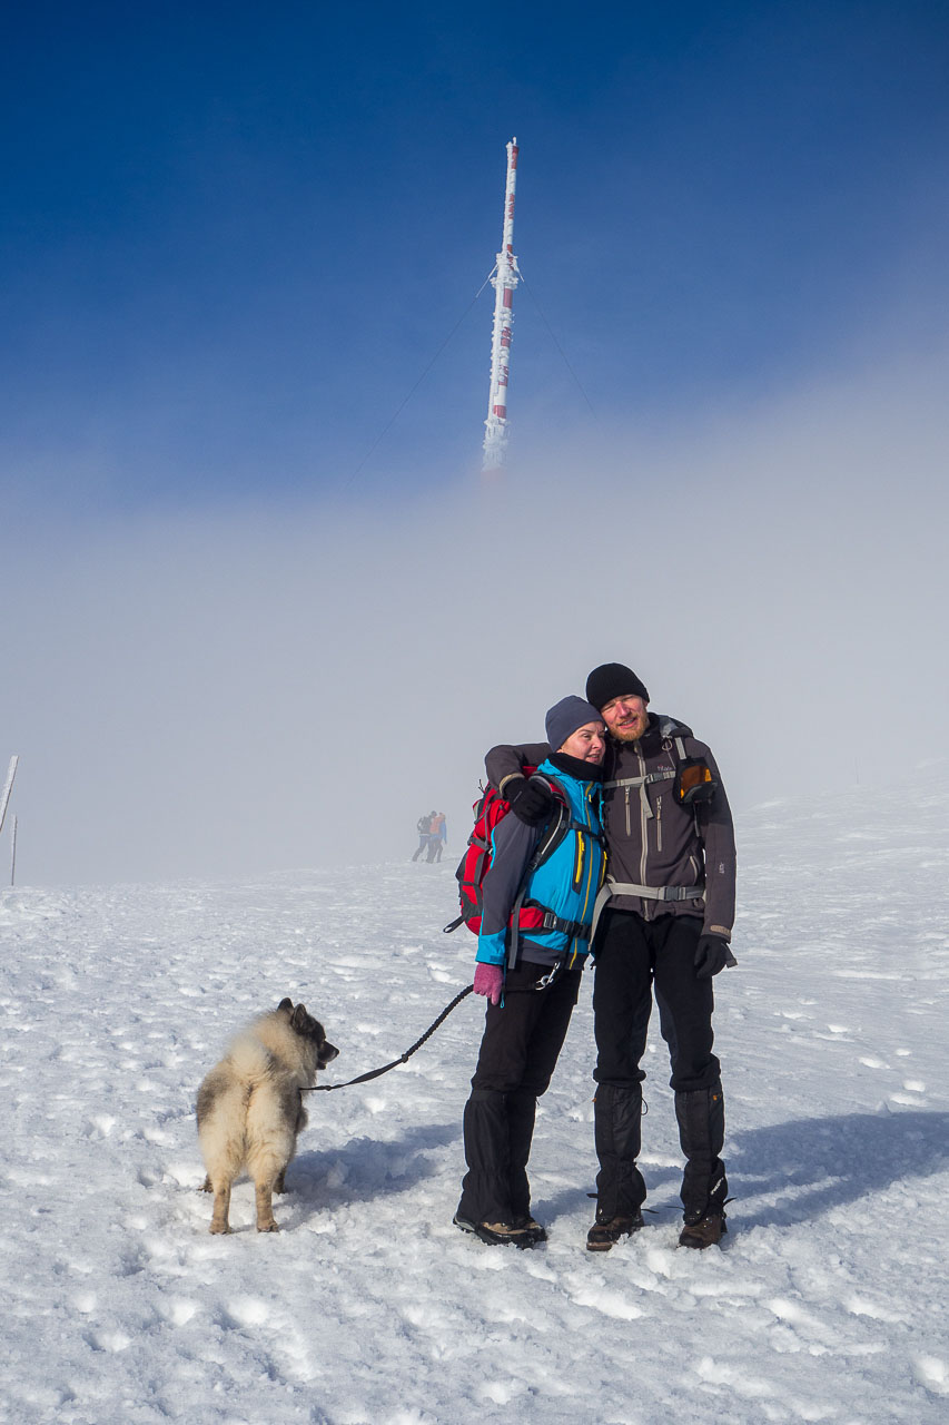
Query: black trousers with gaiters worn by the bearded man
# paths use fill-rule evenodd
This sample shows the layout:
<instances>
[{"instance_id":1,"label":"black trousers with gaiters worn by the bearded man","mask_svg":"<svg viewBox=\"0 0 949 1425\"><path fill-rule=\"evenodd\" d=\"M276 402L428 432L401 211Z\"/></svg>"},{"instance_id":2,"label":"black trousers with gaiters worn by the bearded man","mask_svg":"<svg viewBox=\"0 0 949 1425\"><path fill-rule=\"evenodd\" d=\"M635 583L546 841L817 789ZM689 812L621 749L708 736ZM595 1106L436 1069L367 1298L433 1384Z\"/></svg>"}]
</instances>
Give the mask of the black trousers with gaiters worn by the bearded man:
<instances>
[{"instance_id":1,"label":"black trousers with gaiters worn by the bearded man","mask_svg":"<svg viewBox=\"0 0 949 1425\"><path fill-rule=\"evenodd\" d=\"M668 1046L675 1119L685 1171L687 1221L721 1213L728 1183L721 1150L725 1112L721 1067L712 1053L714 993L695 975L702 922L694 915L644 921L634 911L604 911L594 945L593 1015L597 1040L594 1136L600 1173L597 1216L633 1214L645 1198L640 1154L643 1079L640 1067L653 1007Z\"/></svg>"}]
</instances>

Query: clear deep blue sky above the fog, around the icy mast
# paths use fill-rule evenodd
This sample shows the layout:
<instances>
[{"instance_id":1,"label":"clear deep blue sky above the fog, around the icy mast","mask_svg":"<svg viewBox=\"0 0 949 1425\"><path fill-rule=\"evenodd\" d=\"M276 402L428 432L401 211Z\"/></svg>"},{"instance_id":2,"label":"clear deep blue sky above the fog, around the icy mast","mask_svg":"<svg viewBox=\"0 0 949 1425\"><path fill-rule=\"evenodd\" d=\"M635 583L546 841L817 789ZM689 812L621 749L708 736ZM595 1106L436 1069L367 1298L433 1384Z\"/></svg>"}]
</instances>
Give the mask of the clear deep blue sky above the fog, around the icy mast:
<instances>
[{"instance_id":1,"label":"clear deep blue sky above the fog, around the icy mast","mask_svg":"<svg viewBox=\"0 0 949 1425\"><path fill-rule=\"evenodd\" d=\"M353 477L490 269L514 133L514 457L588 418L540 312L643 429L936 321L942 3L38 3L0 63L0 456L34 512L476 466L490 288Z\"/></svg>"}]
</instances>

